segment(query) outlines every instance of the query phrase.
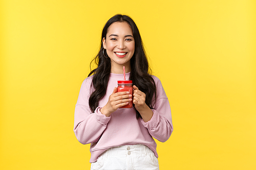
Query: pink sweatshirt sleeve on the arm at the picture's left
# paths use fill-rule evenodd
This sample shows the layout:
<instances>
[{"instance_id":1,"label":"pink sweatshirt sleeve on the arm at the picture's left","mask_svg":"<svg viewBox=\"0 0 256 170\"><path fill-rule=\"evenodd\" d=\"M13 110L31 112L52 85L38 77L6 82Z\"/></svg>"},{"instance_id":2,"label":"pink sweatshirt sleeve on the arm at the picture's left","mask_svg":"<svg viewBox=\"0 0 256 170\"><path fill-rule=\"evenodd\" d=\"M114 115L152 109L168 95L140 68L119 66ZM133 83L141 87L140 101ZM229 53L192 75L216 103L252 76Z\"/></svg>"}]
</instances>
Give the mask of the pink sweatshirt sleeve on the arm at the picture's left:
<instances>
[{"instance_id":1,"label":"pink sweatshirt sleeve on the arm at the picture's left","mask_svg":"<svg viewBox=\"0 0 256 170\"><path fill-rule=\"evenodd\" d=\"M75 107L74 132L82 144L97 142L111 118L101 114L100 107L97 107L94 113L91 112L90 85L89 78L83 81Z\"/></svg>"}]
</instances>

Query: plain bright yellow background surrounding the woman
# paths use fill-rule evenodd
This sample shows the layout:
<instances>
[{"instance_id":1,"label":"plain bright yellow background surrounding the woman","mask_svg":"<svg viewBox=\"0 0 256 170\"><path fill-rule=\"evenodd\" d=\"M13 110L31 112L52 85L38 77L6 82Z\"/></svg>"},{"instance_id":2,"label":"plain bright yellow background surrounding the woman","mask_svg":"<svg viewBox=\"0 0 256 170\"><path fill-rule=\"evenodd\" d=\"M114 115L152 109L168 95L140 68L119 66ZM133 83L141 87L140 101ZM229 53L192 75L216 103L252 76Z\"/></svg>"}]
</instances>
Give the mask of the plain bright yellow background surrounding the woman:
<instances>
[{"instance_id":1,"label":"plain bright yellow background surrounding the woman","mask_svg":"<svg viewBox=\"0 0 256 170\"><path fill-rule=\"evenodd\" d=\"M256 3L0 2L0 168L89 169L73 133L104 23L130 15L162 81L174 132L160 169L256 169Z\"/></svg>"}]
</instances>

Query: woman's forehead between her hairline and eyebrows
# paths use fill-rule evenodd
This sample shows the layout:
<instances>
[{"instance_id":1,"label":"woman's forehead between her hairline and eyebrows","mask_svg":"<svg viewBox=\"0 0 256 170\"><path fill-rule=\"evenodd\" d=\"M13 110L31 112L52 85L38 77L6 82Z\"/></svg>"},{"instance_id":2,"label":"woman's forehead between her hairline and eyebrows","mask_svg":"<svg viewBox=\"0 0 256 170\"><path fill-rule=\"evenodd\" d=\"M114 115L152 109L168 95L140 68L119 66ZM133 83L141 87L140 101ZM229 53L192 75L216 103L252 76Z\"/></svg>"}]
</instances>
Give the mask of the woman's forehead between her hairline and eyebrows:
<instances>
[{"instance_id":1,"label":"woman's forehead between her hairline and eyebrows","mask_svg":"<svg viewBox=\"0 0 256 170\"><path fill-rule=\"evenodd\" d=\"M114 22L112 25L110 25L108 32L106 35L111 35L111 34L116 34L116 35L133 35L133 31L129 23L127 22Z\"/></svg>"}]
</instances>

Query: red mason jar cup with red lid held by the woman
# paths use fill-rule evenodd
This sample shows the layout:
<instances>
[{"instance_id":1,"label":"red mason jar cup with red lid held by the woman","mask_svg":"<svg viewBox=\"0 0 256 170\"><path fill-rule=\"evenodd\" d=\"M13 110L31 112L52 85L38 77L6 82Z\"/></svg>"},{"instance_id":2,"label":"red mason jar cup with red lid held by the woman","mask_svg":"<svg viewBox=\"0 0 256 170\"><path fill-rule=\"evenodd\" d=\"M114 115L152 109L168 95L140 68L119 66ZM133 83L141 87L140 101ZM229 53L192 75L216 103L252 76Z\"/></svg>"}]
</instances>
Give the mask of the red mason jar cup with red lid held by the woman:
<instances>
[{"instance_id":1,"label":"red mason jar cup with red lid held by the woman","mask_svg":"<svg viewBox=\"0 0 256 170\"><path fill-rule=\"evenodd\" d=\"M130 94L132 94L133 99L133 81L132 80L122 80L122 81L117 81L117 92L119 91L129 91ZM122 106L120 108L132 108L133 107L133 100L129 102L129 104Z\"/></svg>"}]
</instances>

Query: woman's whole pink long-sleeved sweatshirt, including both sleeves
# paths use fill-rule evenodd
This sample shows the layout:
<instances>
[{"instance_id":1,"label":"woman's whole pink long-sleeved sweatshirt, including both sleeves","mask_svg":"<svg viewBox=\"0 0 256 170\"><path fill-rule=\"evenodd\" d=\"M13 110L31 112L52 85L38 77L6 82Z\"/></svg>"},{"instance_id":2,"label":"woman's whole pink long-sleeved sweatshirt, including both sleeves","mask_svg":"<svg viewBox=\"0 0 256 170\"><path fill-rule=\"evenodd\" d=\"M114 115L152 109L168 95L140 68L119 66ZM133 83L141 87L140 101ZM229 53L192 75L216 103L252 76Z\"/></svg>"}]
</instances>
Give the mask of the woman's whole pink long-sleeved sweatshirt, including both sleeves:
<instances>
[{"instance_id":1,"label":"woman's whole pink long-sleeved sweatshirt, including both sleeves","mask_svg":"<svg viewBox=\"0 0 256 170\"><path fill-rule=\"evenodd\" d=\"M129 80L129 76L130 72L126 74L126 80ZM157 100L155 109L152 109L153 117L146 123L143 119L136 118L134 108L117 109L110 117L100 112L108 102L114 87L117 87L117 81L123 79L122 74L111 74L106 94L94 113L89 108L92 76L83 81L75 107L74 132L82 144L91 143L91 163L96 162L105 150L120 145L144 144L158 157L157 144L153 137L161 142L166 141L173 132L173 124L168 98L162 84L157 77L152 77L156 83Z\"/></svg>"}]
</instances>

